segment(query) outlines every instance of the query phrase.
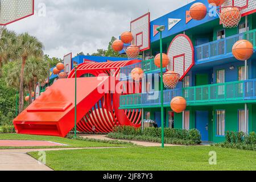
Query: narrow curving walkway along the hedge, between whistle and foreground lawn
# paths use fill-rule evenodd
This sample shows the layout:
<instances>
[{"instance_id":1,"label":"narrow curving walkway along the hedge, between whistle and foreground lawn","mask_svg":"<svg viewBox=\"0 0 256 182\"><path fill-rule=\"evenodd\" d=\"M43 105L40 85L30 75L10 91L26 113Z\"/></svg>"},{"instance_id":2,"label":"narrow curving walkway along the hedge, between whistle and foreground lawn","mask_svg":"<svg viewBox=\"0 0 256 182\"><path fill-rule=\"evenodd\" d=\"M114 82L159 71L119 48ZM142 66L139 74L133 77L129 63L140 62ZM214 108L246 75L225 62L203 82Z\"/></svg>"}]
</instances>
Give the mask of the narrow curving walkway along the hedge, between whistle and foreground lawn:
<instances>
[{"instance_id":1,"label":"narrow curving walkway along the hedge, between whistle and foreground lawn","mask_svg":"<svg viewBox=\"0 0 256 182\"><path fill-rule=\"evenodd\" d=\"M100 139L100 140L114 140L114 139L107 138L106 135L80 135L80 137L90 138L90 139ZM130 140L119 140L119 141L131 142L131 143L137 144L138 146L143 146L143 147L160 147L161 146L161 143L153 143L153 142L139 142L139 141L130 141ZM164 146L172 147L177 145L164 144Z\"/></svg>"}]
</instances>

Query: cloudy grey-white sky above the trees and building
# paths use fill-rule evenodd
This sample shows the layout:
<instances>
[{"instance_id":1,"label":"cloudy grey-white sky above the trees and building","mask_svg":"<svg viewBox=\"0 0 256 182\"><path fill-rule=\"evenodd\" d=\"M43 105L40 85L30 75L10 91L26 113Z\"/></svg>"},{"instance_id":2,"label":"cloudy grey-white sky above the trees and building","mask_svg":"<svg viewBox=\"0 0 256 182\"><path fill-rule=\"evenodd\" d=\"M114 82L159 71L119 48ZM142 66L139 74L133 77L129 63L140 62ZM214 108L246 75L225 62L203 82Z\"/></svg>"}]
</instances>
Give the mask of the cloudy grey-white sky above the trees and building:
<instances>
[{"instance_id":1,"label":"cloudy grey-white sky above the trees and building","mask_svg":"<svg viewBox=\"0 0 256 182\"><path fill-rule=\"evenodd\" d=\"M28 32L44 44L44 53L63 58L69 52L107 49L112 36L130 30L130 21L150 11L151 20L193 0L35 0L35 15L7 26Z\"/></svg>"}]
</instances>

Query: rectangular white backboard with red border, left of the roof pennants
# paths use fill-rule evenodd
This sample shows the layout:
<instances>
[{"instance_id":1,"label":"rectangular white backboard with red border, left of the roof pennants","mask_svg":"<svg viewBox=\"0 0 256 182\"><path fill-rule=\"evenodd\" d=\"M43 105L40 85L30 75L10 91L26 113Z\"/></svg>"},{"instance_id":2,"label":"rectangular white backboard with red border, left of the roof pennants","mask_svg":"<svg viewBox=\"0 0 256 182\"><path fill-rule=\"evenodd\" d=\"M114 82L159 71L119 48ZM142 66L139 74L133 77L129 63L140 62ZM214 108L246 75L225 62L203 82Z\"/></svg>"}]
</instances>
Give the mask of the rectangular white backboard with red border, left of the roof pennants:
<instances>
[{"instance_id":1,"label":"rectangular white backboard with red border, left of the roof pennants","mask_svg":"<svg viewBox=\"0 0 256 182\"><path fill-rule=\"evenodd\" d=\"M131 44L139 46L141 52L150 49L150 13L131 21L131 34Z\"/></svg>"}]
</instances>

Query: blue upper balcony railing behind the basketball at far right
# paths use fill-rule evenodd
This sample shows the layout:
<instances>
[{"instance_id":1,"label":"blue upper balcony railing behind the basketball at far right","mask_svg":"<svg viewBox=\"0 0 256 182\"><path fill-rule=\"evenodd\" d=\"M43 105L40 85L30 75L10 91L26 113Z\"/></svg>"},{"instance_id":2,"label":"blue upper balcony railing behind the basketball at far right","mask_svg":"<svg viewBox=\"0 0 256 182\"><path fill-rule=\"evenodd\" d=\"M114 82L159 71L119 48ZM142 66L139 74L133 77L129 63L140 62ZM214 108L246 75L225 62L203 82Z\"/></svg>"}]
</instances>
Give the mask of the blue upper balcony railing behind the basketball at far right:
<instances>
[{"instance_id":1,"label":"blue upper balcony railing behind the basketball at far right","mask_svg":"<svg viewBox=\"0 0 256 182\"><path fill-rule=\"evenodd\" d=\"M238 40L246 39L253 43L254 49L256 49L255 44L255 34L256 30L251 30L243 34L237 34L234 36L229 36L225 39L216 40L206 44L201 44L195 47L195 63L201 64L207 61L221 60L228 57L233 57L232 48L234 43Z\"/></svg>"}]
</instances>

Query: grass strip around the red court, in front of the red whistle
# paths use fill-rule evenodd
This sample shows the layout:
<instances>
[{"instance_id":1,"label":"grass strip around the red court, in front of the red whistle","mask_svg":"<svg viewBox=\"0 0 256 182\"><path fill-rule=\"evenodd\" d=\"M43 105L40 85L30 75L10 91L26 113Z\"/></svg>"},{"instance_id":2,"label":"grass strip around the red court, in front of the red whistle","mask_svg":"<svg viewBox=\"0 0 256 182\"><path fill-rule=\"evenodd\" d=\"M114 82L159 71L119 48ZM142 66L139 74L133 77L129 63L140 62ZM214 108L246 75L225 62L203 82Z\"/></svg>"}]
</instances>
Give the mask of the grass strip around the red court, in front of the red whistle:
<instances>
[{"instance_id":1,"label":"grass strip around the red court, in front of the red whistle","mask_svg":"<svg viewBox=\"0 0 256 182\"><path fill-rule=\"evenodd\" d=\"M90 140L90 139L68 139L60 137L48 137L38 135L21 135L21 134L0 134L0 140L43 140L51 141L61 144L67 144L68 146L51 146L51 147L0 147L0 149L13 149L13 148L84 148L84 147L126 147L134 146L129 142L114 141L102 141L102 140Z\"/></svg>"}]
</instances>

